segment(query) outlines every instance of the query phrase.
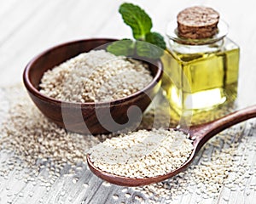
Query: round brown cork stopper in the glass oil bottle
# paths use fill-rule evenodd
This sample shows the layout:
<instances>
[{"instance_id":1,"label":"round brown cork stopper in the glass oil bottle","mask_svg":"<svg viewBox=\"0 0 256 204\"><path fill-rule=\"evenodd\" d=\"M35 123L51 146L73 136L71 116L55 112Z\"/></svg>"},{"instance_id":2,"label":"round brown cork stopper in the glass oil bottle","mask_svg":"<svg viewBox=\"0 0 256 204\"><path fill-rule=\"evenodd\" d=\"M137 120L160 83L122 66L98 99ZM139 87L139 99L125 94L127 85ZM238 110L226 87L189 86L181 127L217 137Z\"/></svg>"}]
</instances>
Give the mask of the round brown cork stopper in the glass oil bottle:
<instances>
[{"instance_id":1,"label":"round brown cork stopper in the glass oil bottle","mask_svg":"<svg viewBox=\"0 0 256 204\"><path fill-rule=\"evenodd\" d=\"M213 37L218 31L218 19L218 12L212 8L185 8L177 14L178 36L190 39Z\"/></svg>"}]
</instances>

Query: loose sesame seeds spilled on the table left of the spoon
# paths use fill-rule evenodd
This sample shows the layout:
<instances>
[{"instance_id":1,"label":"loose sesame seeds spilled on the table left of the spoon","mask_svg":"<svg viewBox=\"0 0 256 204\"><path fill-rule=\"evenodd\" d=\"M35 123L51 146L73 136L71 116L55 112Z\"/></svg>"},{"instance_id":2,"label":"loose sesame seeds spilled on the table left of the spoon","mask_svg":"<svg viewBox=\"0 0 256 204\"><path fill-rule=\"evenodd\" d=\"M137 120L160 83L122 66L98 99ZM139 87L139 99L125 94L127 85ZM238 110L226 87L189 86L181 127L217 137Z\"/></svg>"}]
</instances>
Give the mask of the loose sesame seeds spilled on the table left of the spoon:
<instances>
[{"instance_id":1,"label":"loose sesame seeds spilled on the table left of the spoon","mask_svg":"<svg viewBox=\"0 0 256 204\"><path fill-rule=\"evenodd\" d=\"M20 88L13 94L19 92ZM14 102L0 127L0 150L14 153L8 161L1 162L3 176L13 169L29 168L30 176L34 177L46 168L50 177L58 178L66 165L71 167L67 174L72 173L76 164L86 160L87 150L103 137L67 133L39 112L24 93L12 99Z\"/></svg>"}]
</instances>

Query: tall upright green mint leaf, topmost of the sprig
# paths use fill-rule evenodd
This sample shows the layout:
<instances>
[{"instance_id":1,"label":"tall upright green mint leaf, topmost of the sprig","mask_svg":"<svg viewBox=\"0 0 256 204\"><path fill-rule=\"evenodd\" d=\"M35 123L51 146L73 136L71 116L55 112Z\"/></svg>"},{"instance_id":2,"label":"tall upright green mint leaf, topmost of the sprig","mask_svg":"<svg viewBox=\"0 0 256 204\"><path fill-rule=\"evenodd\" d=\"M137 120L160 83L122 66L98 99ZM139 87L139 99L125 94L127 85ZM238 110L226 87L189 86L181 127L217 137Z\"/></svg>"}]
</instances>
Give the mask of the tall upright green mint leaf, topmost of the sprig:
<instances>
[{"instance_id":1,"label":"tall upright green mint leaf, topmost of the sprig","mask_svg":"<svg viewBox=\"0 0 256 204\"><path fill-rule=\"evenodd\" d=\"M133 37L137 40L143 40L146 34L152 28L152 21L148 14L137 5L132 3L123 3L119 7L119 13L128 26L131 26Z\"/></svg>"}]
</instances>

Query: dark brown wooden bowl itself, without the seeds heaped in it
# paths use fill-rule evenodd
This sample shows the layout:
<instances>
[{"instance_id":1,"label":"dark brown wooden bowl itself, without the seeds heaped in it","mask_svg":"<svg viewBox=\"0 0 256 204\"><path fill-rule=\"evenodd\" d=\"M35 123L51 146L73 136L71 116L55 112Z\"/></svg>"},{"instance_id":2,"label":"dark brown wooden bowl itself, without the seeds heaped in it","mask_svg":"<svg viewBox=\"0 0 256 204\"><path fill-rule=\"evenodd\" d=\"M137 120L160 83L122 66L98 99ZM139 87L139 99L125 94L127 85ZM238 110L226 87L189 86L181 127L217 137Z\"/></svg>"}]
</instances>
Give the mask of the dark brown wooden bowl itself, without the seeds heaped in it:
<instances>
[{"instance_id":1,"label":"dark brown wooden bowl itself, without the seeds heaped in it","mask_svg":"<svg viewBox=\"0 0 256 204\"><path fill-rule=\"evenodd\" d=\"M69 103L49 98L39 92L38 85L44 71L80 53L113 41L115 40L87 39L63 43L38 54L26 65L23 81L28 94L38 109L52 122L76 133L96 134L116 132L131 127L141 120L142 114L139 114L140 111L134 107L140 108L141 112L145 111L159 91L163 69L158 60L154 61L154 65L148 63L154 77L153 82L150 82L143 90L123 99L99 103Z\"/></svg>"}]
</instances>

